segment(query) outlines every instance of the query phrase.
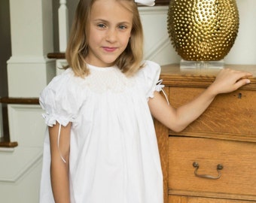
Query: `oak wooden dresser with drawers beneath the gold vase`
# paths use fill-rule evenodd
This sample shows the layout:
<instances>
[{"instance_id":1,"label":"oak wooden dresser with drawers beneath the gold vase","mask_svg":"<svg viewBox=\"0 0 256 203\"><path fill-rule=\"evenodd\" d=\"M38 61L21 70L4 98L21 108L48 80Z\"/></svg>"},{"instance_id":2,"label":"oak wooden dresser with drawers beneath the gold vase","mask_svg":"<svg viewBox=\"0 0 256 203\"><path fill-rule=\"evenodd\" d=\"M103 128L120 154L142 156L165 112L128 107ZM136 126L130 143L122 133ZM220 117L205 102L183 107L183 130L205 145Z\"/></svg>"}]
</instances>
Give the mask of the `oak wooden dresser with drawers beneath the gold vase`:
<instances>
[{"instance_id":1,"label":"oak wooden dresser with drawers beneath the gold vase","mask_svg":"<svg viewBox=\"0 0 256 203\"><path fill-rule=\"evenodd\" d=\"M251 71L251 83L218 95L183 132L155 121L165 203L256 202L256 65L227 67ZM160 78L178 107L206 89L218 71L164 65Z\"/></svg>"}]
</instances>

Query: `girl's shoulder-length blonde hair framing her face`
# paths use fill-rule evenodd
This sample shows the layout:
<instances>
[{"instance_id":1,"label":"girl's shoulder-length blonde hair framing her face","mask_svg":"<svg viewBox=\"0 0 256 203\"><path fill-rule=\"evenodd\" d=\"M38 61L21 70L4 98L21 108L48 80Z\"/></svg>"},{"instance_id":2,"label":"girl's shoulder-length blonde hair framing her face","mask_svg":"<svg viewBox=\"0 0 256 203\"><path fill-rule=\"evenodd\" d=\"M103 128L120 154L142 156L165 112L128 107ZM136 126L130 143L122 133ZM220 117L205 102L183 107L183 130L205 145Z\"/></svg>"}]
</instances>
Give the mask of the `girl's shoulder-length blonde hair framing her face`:
<instances>
[{"instance_id":1,"label":"girl's shoulder-length blonde hair framing her face","mask_svg":"<svg viewBox=\"0 0 256 203\"><path fill-rule=\"evenodd\" d=\"M75 20L72 24L69 43L66 49L66 60L69 67L73 69L75 75L84 77L89 74L85 57L88 54L89 16L91 7L97 0L80 0L75 12ZM133 28L131 30L130 41L120 56L115 60L115 64L127 76L133 75L142 67L143 59L143 30L139 17L139 11L133 0L117 0L129 11L133 12ZM129 5L129 8L126 6Z\"/></svg>"}]
</instances>

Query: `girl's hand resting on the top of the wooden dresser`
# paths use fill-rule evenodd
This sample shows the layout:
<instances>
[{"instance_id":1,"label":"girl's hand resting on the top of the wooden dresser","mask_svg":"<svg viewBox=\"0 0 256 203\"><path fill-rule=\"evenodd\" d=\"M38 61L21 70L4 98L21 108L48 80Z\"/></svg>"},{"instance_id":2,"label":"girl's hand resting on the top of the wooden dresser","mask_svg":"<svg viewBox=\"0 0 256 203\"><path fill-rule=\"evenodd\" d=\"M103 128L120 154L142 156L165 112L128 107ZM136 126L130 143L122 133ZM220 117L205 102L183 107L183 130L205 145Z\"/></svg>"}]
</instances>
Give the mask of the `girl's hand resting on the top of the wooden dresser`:
<instances>
[{"instance_id":1,"label":"girl's hand resting on the top of the wooden dresser","mask_svg":"<svg viewBox=\"0 0 256 203\"><path fill-rule=\"evenodd\" d=\"M247 78L250 76L252 76L252 74L249 72L224 68L218 73L212 85L209 86L209 90L211 90L214 95L233 92L239 87L250 83L251 81Z\"/></svg>"}]
</instances>

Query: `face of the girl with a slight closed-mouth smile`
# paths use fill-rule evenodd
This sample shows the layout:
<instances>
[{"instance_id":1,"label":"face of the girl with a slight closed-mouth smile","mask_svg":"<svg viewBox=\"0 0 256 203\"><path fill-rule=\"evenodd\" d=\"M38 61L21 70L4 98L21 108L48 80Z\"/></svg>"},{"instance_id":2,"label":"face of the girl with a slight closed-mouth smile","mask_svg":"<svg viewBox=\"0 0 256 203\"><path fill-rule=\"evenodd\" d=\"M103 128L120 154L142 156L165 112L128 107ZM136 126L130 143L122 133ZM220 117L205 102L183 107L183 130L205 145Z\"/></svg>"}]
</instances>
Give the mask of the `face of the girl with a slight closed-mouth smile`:
<instances>
[{"instance_id":1,"label":"face of the girl with a slight closed-mouth smile","mask_svg":"<svg viewBox=\"0 0 256 203\"><path fill-rule=\"evenodd\" d=\"M89 17L89 51L86 62L108 67L123 53L133 26L133 13L116 0L96 0Z\"/></svg>"}]
</instances>

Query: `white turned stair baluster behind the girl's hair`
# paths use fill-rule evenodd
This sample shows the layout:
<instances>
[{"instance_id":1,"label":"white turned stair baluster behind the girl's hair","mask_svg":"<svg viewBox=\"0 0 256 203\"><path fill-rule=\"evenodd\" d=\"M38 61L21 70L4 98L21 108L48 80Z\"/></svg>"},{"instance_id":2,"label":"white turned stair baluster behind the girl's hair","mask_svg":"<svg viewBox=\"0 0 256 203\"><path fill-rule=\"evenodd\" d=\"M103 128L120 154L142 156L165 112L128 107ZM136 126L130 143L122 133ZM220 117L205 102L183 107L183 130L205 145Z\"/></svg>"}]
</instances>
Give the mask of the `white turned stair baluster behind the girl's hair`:
<instances>
[{"instance_id":1,"label":"white turned stair baluster behind the girl's hair","mask_svg":"<svg viewBox=\"0 0 256 203\"><path fill-rule=\"evenodd\" d=\"M66 0L59 0L59 52L66 52L69 37L69 11Z\"/></svg>"}]
</instances>

